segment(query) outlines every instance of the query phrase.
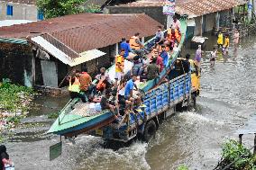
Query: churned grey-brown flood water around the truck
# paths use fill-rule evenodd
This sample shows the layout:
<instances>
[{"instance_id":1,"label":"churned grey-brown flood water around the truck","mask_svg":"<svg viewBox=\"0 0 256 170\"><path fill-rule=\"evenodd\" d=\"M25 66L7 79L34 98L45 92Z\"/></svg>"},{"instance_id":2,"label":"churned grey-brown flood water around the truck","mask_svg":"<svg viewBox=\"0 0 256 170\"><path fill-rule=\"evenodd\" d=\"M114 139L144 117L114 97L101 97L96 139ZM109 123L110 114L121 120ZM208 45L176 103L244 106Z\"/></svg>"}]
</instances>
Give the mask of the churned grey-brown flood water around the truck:
<instances>
[{"instance_id":1,"label":"churned grey-brown flood water around the truck","mask_svg":"<svg viewBox=\"0 0 256 170\"><path fill-rule=\"evenodd\" d=\"M207 40L207 50L215 40ZM194 54L195 50L187 50ZM130 147L113 150L103 148L103 139L80 136L76 144L64 140L62 156L49 161L49 147L58 137L41 134L49 129L45 115L33 113L28 120L44 120L43 128L32 142L21 138L8 142L7 148L16 169L177 169L181 164L189 169L213 169L221 157L225 139L238 139L235 130L242 127L256 113L256 37L242 40L240 48L230 57L221 56L210 68L207 56L203 59L201 94L197 110L178 112L161 124L156 137L149 144L134 142ZM44 102L47 99L43 100ZM61 107L68 99L50 99L52 107ZM59 103L59 106L56 105ZM45 109L45 108L44 108ZM34 119L34 120L33 120ZM23 137L28 137L26 134ZM245 136L244 142L253 145L253 138Z\"/></svg>"}]
</instances>

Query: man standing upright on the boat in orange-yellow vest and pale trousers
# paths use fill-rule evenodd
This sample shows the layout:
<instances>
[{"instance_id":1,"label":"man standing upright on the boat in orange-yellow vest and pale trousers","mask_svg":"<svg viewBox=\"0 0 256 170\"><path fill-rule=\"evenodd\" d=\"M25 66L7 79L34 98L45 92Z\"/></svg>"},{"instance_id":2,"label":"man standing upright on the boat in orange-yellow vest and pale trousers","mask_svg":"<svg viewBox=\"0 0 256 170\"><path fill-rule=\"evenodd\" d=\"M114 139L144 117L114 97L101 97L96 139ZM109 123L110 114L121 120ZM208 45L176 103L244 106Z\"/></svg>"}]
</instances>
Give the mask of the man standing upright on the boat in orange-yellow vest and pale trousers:
<instances>
[{"instance_id":1,"label":"man standing upright on the boat in orange-yellow vest and pale trousers","mask_svg":"<svg viewBox=\"0 0 256 170\"><path fill-rule=\"evenodd\" d=\"M121 49L120 54L115 56L115 86L117 86L117 82L120 81L123 77L123 69L124 69L124 55L125 50Z\"/></svg>"}]
</instances>

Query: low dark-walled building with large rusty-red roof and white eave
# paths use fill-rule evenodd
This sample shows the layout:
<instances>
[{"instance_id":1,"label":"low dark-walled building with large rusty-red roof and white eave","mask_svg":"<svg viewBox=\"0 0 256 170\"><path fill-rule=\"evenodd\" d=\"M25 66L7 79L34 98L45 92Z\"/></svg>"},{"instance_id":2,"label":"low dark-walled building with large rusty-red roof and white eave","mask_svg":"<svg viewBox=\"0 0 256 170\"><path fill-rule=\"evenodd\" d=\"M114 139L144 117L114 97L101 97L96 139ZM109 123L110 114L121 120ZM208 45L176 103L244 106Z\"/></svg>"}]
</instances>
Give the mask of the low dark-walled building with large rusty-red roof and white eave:
<instances>
[{"instance_id":1,"label":"low dark-walled building with large rusty-red roof and white eave","mask_svg":"<svg viewBox=\"0 0 256 170\"><path fill-rule=\"evenodd\" d=\"M136 32L148 37L159 25L142 13L82 13L2 27L0 78L60 93L72 68L86 65L93 76L100 67L111 66L123 37L128 40Z\"/></svg>"}]
</instances>

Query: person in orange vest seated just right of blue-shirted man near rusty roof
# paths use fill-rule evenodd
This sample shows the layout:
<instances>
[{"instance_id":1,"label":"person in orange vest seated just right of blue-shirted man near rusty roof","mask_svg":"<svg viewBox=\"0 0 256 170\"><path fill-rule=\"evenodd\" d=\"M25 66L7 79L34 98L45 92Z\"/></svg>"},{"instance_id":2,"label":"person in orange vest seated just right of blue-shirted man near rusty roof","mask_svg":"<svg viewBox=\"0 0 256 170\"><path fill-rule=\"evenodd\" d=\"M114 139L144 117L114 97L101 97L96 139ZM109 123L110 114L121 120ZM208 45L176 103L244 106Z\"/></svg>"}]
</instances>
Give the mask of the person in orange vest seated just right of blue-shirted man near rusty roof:
<instances>
[{"instance_id":1,"label":"person in orange vest seated just right of blue-shirted man near rusty roof","mask_svg":"<svg viewBox=\"0 0 256 170\"><path fill-rule=\"evenodd\" d=\"M129 40L129 44L131 49L133 49L133 51L140 57L142 58L145 54L144 51L144 45L142 43L142 41L140 40L140 33L137 32L134 34L133 37L130 38Z\"/></svg>"}]
</instances>

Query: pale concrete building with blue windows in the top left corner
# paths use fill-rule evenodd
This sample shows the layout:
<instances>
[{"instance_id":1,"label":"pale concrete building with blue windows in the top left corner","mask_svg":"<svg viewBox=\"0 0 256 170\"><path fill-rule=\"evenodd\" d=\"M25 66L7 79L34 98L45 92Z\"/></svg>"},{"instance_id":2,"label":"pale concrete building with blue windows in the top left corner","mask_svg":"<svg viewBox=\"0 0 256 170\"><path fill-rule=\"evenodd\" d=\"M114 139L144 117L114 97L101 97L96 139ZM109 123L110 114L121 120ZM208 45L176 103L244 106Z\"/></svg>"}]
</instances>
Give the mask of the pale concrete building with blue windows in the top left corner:
<instances>
[{"instance_id":1,"label":"pale concrete building with blue windows in the top left corner","mask_svg":"<svg viewBox=\"0 0 256 170\"><path fill-rule=\"evenodd\" d=\"M0 20L42 20L43 13L35 3L36 0L1 0Z\"/></svg>"}]
</instances>

